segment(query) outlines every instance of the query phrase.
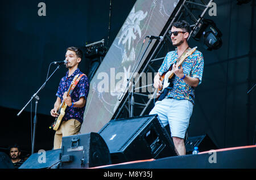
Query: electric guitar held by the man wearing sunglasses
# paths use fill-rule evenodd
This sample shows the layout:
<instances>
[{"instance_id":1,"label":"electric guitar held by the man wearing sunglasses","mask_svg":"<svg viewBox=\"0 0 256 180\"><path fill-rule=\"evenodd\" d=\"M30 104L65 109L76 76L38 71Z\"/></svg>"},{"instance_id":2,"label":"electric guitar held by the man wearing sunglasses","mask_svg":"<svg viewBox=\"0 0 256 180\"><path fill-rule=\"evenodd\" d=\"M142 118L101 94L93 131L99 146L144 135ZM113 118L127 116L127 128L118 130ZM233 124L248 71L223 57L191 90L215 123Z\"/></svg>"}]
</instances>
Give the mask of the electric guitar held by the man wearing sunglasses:
<instances>
[{"instance_id":1,"label":"electric guitar held by the man wearing sunglasses","mask_svg":"<svg viewBox=\"0 0 256 180\"><path fill-rule=\"evenodd\" d=\"M185 59L187 59L189 57L189 55L193 54L197 49L197 46L195 48L192 49L187 49L187 52L185 52L185 54L182 54L181 57L179 59L177 59L177 66L181 66L182 63L185 61ZM173 64L172 64L173 65ZM168 89L170 89L172 87L172 77L174 76L174 71L172 70L172 65L170 67L169 71L166 71L162 74L162 76L160 77L160 80L162 81L163 86L155 89L154 92L154 97L158 98L159 101L163 100L163 98L167 95L168 93ZM168 87L168 89L167 89Z\"/></svg>"}]
</instances>

